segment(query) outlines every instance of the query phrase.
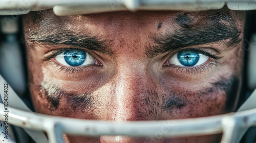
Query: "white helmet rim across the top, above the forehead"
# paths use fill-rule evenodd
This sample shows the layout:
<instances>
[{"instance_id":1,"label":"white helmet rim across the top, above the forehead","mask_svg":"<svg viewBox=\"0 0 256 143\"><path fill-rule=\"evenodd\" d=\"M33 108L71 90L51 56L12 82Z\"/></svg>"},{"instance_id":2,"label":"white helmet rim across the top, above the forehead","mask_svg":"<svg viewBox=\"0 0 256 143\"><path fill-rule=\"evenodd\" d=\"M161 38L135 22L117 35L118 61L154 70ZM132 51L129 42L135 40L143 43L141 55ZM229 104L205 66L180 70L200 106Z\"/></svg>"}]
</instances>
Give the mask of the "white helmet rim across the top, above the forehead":
<instances>
[{"instance_id":1,"label":"white helmet rim across the top, above the forehead","mask_svg":"<svg viewBox=\"0 0 256 143\"><path fill-rule=\"evenodd\" d=\"M56 15L77 15L122 10L221 9L254 10L256 0L0 0L0 15L27 14L29 11L53 9Z\"/></svg>"}]
</instances>

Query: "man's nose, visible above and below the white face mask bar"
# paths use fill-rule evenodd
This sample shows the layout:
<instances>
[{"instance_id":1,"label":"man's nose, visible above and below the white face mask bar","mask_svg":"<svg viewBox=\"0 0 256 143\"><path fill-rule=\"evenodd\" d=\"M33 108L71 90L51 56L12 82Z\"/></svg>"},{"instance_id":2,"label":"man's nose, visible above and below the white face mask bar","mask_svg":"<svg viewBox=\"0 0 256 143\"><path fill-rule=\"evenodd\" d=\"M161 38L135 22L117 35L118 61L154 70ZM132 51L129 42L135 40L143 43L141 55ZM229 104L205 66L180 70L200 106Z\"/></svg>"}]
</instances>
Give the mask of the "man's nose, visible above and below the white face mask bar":
<instances>
[{"instance_id":1,"label":"man's nose, visible above and below the white face mask bar","mask_svg":"<svg viewBox=\"0 0 256 143\"><path fill-rule=\"evenodd\" d=\"M138 73L141 70L120 71L115 77L117 80L113 83L114 90L112 92L108 106L108 121L125 122L139 120L156 120L152 116L148 116L148 109L145 99L147 90L150 87L150 78L146 74ZM128 136L110 136L102 135L100 137L102 143L128 143L128 142L148 142L162 143L163 138L134 138Z\"/></svg>"}]
</instances>

